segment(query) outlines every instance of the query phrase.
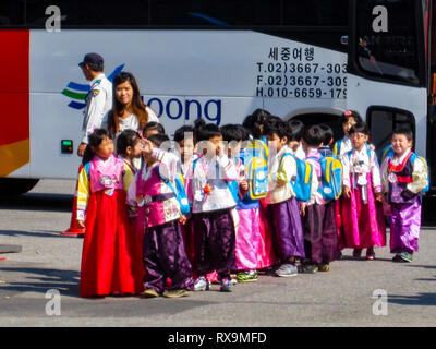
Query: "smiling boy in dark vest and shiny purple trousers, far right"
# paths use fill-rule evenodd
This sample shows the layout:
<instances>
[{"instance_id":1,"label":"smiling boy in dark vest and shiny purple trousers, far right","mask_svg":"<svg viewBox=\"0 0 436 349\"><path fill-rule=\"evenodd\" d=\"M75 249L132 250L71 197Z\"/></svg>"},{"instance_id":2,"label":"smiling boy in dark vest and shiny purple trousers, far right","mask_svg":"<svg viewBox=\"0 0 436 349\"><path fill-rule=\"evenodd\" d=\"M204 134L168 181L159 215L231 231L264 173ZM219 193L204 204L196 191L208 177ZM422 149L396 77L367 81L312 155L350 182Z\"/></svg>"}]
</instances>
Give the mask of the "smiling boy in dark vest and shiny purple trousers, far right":
<instances>
[{"instance_id":1,"label":"smiling boy in dark vest and shiny purple trousers, far right","mask_svg":"<svg viewBox=\"0 0 436 349\"><path fill-rule=\"evenodd\" d=\"M390 205L390 252L393 262L412 262L421 228L421 191L427 185L427 166L412 152L413 133L398 129L392 151L382 166L386 201Z\"/></svg>"}]
</instances>

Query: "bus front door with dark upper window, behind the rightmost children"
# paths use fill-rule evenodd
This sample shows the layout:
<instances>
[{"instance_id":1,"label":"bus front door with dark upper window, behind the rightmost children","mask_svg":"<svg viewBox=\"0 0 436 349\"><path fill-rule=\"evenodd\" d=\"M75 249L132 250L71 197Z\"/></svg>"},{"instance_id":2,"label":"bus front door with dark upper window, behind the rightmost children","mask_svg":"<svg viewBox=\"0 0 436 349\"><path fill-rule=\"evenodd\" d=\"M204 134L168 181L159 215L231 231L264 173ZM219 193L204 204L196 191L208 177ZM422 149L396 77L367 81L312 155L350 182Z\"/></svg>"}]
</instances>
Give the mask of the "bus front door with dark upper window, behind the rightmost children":
<instances>
[{"instance_id":1,"label":"bus front door with dark upper window, behind the rightmost children","mask_svg":"<svg viewBox=\"0 0 436 349\"><path fill-rule=\"evenodd\" d=\"M414 131L426 156L427 89L423 4L416 0L352 0L347 107L366 120L377 154L391 131Z\"/></svg>"}]
</instances>

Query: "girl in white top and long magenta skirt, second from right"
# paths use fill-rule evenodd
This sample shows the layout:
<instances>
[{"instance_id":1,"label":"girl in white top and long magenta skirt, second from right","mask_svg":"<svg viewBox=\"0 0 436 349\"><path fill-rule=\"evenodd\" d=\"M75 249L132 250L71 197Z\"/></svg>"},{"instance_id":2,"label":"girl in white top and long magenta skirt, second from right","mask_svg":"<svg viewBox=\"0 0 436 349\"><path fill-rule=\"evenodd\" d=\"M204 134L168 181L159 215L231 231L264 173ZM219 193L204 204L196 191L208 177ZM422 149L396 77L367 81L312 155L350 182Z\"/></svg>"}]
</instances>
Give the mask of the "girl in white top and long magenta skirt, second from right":
<instances>
[{"instance_id":1,"label":"girl in white top and long magenta skirt, second from right","mask_svg":"<svg viewBox=\"0 0 436 349\"><path fill-rule=\"evenodd\" d=\"M354 249L354 257L366 249L366 260L374 260L374 246L386 245L386 225L380 170L368 137L365 123L354 124L350 129L353 149L342 156L341 240L344 248Z\"/></svg>"}]
</instances>

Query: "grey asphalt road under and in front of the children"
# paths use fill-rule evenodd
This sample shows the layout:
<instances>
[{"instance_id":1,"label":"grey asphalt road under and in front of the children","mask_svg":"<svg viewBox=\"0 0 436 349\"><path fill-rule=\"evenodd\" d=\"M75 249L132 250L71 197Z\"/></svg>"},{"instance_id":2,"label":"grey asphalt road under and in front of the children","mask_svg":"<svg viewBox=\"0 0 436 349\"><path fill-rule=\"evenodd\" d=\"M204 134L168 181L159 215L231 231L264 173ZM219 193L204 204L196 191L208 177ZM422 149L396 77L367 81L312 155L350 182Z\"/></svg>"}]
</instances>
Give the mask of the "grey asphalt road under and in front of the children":
<instances>
[{"instance_id":1,"label":"grey asphalt road under and in front of the children","mask_svg":"<svg viewBox=\"0 0 436 349\"><path fill-rule=\"evenodd\" d=\"M46 180L21 197L0 198L0 244L22 246L0 254L5 257L0 261L0 327L436 325L436 230L431 226L422 229L411 264L392 263L388 248L377 249L375 261L352 258L346 250L328 273L292 278L265 273L232 293L214 285L175 300L82 299L83 239L60 234L70 224L74 185ZM436 222L433 198L426 201L428 224ZM59 297L51 298L53 289Z\"/></svg>"}]
</instances>

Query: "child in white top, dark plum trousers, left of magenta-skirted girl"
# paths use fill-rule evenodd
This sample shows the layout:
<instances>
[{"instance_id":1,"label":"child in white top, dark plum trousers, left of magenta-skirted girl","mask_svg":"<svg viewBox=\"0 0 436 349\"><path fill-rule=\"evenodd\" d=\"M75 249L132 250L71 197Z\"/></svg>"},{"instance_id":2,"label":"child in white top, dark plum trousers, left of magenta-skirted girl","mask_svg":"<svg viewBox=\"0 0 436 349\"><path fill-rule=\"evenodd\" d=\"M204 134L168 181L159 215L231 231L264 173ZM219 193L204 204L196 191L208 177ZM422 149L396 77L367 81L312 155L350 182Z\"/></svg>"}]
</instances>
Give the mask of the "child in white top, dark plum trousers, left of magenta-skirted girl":
<instances>
[{"instance_id":1,"label":"child in white top, dark plum trousers, left of magenta-skirted girl","mask_svg":"<svg viewBox=\"0 0 436 349\"><path fill-rule=\"evenodd\" d=\"M302 260L300 273L328 272L330 262L338 255L336 201L327 201L318 191L323 183L319 148L325 142L325 132L319 125L313 125L304 132L305 160L313 168L313 181L310 201L301 204L306 256Z\"/></svg>"}]
</instances>

